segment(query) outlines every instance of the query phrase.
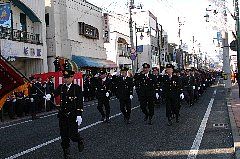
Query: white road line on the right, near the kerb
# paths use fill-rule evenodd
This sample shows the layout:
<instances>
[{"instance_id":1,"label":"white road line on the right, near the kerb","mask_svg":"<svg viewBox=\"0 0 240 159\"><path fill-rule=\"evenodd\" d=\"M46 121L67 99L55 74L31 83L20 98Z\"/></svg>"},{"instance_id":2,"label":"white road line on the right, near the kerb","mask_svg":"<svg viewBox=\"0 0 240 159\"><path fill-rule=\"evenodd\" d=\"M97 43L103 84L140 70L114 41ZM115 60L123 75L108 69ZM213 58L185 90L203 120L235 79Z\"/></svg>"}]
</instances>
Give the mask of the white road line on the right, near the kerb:
<instances>
[{"instance_id":1,"label":"white road line on the right, near the kerb","mask_svg":"<svg viewBox=\"0 0 240 159\"><path fill-rule=\"evenodd\" d=\"M197 135L194 139L194 142L192 144L192 147L191 147L191 150L188 154L187 159L195 159L197 157L198 150L199 150L199 147L200 147L201 142L202 142L203 134L204 134L204 131L205 131L205 128L206 128L206 125L207 125L208 118L209 118L210 113L211 113L211 109L212 109L212 106L213 106L213 102L214 102L214 98L215 98L216 93L217 93L217 90L214 91L213 97L211 98L211 100L208 104L207 111L206 111L206 113L203 117L203 120L202 120L201 125L198 129Z\"/></svg>"}]
</instances>

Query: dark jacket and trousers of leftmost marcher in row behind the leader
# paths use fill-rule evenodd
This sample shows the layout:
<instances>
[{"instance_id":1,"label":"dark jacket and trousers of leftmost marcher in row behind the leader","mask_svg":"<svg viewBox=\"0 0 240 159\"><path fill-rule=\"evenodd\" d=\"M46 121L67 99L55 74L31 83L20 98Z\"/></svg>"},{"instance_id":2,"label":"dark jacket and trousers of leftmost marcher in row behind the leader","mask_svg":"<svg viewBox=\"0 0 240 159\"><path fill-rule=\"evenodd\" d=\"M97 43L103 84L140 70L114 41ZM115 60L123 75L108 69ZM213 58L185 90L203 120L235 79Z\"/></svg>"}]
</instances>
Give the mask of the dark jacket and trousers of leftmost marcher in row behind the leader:
<instances>
[{"instance_id":1,"label":"dark jacket and trousers of leftmost marcher in row behind the leader","mask_svg":"<svg viewBox=\"0 0 240 159\"><path fill-rule=\"evenodd\" d=\"M98 79L97 82L97 99L98 99L98 106L97 109L101 113L103 118L109 118L110 115L110 105L109 100L110 97L106 97L106 93L111 93L112 90L112 83L110 79L106 79L102 81L101 78ZM105 111L103 110L103 106L105 107Z\"/></svg>"}]
</instances>

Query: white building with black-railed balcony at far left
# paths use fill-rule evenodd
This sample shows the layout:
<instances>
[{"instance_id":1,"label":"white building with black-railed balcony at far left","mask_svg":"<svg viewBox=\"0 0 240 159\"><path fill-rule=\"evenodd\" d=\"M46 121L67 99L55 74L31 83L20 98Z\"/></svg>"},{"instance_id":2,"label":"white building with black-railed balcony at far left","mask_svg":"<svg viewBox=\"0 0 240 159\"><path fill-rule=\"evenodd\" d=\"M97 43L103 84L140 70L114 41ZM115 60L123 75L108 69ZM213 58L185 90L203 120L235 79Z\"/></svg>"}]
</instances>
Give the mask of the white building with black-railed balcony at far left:
<instances>
[{"instance_id":1,"label":"white building with black-railed balcony at far left","mask_svg":"<svg viewBox=\"0 0 240 159\"><path fill-rule=\"evenodd\" d=\"M1 54L26 76L47 72L45 2L3 0L0 7L6 18L0 24Z\"/></svg>"}]
</instances>

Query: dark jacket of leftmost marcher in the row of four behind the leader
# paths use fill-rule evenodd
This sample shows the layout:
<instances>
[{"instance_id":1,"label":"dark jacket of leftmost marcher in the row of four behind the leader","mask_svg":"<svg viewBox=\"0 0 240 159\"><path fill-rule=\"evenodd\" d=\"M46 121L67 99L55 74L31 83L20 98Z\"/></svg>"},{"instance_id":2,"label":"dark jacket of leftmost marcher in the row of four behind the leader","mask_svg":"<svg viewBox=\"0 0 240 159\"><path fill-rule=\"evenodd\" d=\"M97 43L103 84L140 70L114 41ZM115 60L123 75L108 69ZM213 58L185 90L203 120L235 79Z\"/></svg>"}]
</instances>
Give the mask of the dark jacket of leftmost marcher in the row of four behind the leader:
<instances>
[{"instance_id":1,"label":"dark jacket of leftmost marcher in the row of four behind the leader","mask_svg":"<svg viewBox=\"0 0 240 159\"><path fill-rule=\"evenodd\" d=\"M106 93L108 92L111 95L111 90L112 90L112 82L109 78L107 78L105 81L103 81L101 78L97 80L96 84L96 97L99 100L104 100L106 98Z\"/></svg>"}]
</instances>

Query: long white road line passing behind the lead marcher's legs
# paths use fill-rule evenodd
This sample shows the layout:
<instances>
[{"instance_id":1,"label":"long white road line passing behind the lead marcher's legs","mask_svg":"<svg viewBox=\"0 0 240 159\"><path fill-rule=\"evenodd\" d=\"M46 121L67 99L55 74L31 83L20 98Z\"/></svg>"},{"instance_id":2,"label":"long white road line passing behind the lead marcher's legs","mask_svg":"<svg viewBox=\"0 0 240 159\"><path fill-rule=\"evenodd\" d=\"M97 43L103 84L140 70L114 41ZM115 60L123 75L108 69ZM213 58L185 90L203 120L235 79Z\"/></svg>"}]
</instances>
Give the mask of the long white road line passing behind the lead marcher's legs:
<instances>
[{"instance_id":1,"label":"long white road line passing behind the lead marcher's legs","mask_svg":"<svg viewBox=\"0 0 240 159\"><path fill-rule=\"evenodd\" d=\"M139 107L140 107L140 106L136 106L136 107L132 108L132 110L137 109L137 108L139 108ZM122 113L115 114L115 115L111 116L110 119L115 118L115 117L117 117L117 116L119 116L119 115L121 115L121 114L122 114ZM92 123L92 124L90 124L90 125L87 125L87 126L81 128L81 129L78 129L78 131L80 132L80 131L86 130L86 129L91 128L91 127L93 127L93 126L95 126L95 125L98 125L98 124L100 124L100 123L102 123L102 122L103 122L103 121L97 121L97 122L95 122L95 123ZM56 141L59 141L60 139L61 139L61 137L57 137L57 138L55 138L55 139L52 139L52 140L47 141L47 142L45 142L45 143L42 143L42 144L40 144L40 145L34 146L34 147L30 148L30 149L27 149L27 150L24 150L24 151L22 151L22 152L19 152L19 153L15 154L15 155L12 155L12 156L10 156L10 157L6 157L5 159L18 158L18 157L20 157L20 156L23 156L23 155L26 155L26 154L28 154L28 153L30 153L30 152L33 152L33 151L35 151L35 150L37 150L37 149L40 149L40 148L42 148L42 147L44 147L44 146L47 146L47 145L49 145L49 144L52 144L52 143L54 143L54 142L56 142Z\"/></svg>"}]
</instances>

